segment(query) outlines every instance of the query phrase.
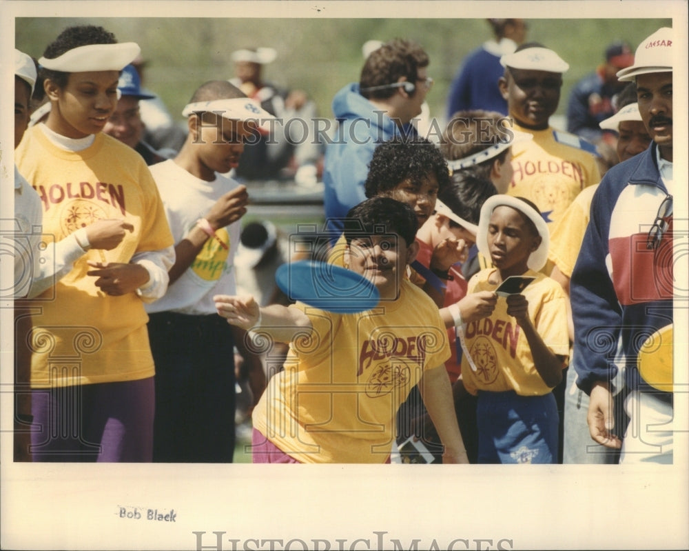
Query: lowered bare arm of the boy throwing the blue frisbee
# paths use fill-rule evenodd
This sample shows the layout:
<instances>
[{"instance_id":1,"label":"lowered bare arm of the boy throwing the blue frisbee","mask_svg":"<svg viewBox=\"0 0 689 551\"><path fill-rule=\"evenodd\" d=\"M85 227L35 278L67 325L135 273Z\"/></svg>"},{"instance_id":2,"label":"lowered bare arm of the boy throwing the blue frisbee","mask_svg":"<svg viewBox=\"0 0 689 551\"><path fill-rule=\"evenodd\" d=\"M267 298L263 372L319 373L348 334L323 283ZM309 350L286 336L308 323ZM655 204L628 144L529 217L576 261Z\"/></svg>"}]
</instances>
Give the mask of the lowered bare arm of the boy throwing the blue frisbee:
<instances>
[{"instance_id":1,"label":"lowered bare arm of the boy throwing the blue frisbee","mask_svg":"<svg viewBox=\"0 0 689 551\"><path fill-rule=\"evenodd\" d=\"M419 381L419 390L445 448L442 462L469 463L460 427L457 425L452 388L445 366L439 365L424 371Z\"/></svg>"}]
</instances>

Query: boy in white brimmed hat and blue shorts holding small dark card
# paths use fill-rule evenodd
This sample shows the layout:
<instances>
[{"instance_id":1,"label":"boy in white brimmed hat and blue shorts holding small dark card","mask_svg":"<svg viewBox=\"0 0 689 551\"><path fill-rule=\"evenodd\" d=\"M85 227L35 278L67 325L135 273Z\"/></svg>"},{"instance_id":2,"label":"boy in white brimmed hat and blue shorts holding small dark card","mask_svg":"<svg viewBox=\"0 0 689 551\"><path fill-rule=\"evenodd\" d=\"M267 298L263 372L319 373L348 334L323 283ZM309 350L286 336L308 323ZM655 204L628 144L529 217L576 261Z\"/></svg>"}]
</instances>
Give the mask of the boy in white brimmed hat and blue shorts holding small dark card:
<instances>
[{"instance_id":1,"label":"boy in white brimmed hat and blue shorts holding small dark card","mask_svg":"<svg viewBox=\"0 0 689 551\"><path fill-rule=\"evenodd\" d=\"M551 390L569 354L565 296L540 273L548 228L525 199L486 200L477 246L495 268L475 274L468 292L496 291L510 276L533 277L518 294L500 298L493 313L462 326L462 378L478 395L479 463L555 463L558 414Z\"/></svg>"}]
</instances>

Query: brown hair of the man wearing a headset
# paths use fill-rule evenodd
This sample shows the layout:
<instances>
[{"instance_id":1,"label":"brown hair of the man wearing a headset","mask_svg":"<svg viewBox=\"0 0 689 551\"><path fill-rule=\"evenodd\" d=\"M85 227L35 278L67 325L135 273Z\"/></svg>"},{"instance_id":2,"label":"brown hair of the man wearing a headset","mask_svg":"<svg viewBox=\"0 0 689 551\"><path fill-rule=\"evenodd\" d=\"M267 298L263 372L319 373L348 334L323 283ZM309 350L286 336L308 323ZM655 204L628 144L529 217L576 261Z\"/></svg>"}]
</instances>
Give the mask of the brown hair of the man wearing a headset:
<instances>
[{"instance_id":1,"label":"brown hair of the man wearing a headset","mask_svg":"<svg viewBox=\"0 0 689 551\"><path fill-rule=\"evenodd\" d=\"M378 50L371 52L364 63L359 79L359 88L384 86L407 77L407 81L416 82L418 70L429 65L429 56L417 43L405 39L393 39L384 43ZM386 99L391 97L396 88L383 88L371 92L361 92L365 98Z\"/></svg>"}]
</instances>

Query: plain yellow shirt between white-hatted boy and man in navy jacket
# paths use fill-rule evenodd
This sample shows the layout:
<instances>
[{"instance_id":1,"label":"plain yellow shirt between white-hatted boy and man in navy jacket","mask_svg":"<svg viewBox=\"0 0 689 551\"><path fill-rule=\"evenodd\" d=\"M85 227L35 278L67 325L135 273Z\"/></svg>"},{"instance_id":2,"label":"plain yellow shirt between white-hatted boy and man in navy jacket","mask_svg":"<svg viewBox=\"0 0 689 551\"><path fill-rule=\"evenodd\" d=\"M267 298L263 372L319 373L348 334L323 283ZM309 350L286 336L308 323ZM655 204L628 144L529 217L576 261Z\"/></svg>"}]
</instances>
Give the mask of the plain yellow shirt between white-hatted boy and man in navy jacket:
<instances>
[{"instance_id":1,"label":"plain yellow shirt between white-hatted boy and man in navy jacket","mask_svg":"<svg viewBox=\"0 0 689 551\"><path fill-rule=\"evenodd\" d=\"M590 218L591 199L599 184L588 186L562 213L562 217L551 226L551 246L548 260L554 263L567 277L572 277L582 248L584 233Z\"/></svg>"}]
</instances>

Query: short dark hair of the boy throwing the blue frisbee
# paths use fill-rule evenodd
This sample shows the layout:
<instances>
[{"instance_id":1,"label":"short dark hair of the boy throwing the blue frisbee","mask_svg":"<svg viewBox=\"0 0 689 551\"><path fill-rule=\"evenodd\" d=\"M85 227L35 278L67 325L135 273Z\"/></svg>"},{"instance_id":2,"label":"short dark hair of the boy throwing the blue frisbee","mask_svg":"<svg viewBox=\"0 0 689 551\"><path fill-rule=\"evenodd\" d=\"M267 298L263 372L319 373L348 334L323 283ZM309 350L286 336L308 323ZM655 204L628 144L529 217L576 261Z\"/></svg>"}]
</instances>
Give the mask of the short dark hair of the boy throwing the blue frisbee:
<instances>
[{"instance_id":1,"label":"short dark hair of the boy throwing the blue frisbee","mask_svg":"<svg viewBox=\"0 0 689 551\"><path fill-rule=\"evenodd\" d=\"M407 203L390 197L371 197L349 209L344 233L348 244L363 235L398 234L409 247L418 228L416 214Z\"/></svg>"}]
</instances>

